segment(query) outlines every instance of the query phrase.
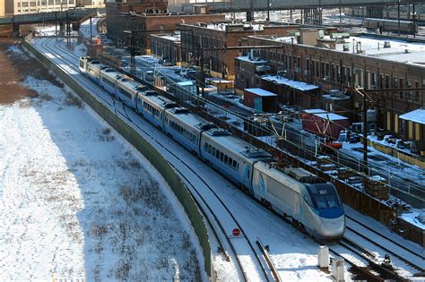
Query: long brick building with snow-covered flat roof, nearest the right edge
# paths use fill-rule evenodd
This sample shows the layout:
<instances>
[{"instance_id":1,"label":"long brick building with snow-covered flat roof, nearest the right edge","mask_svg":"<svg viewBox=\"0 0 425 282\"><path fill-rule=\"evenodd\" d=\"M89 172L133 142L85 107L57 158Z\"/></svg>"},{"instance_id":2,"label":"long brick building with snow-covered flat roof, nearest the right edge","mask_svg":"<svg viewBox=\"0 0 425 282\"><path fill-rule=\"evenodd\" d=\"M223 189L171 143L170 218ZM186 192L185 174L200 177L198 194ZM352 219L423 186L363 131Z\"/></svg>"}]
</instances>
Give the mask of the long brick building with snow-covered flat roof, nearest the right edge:
<instances>
[{"instance_id":1,"label":"long brick building with snow-covered flat roof, nearest the right edge","mask_svg":"<svg viewBox=\"0 0 425 282\"><path fill-rule=\"evenodd\" d=\"M284 73L286 78L315 84L323 91L345 87L365 90L425 88L425 44L371 37L334 38L334 41L335 49L292 44L270 36L250 36L246 44L279 46L260 50L259 57L268 60L274 70ZM241 83L238 80L241 78L237 75L235 85ZM376 101L377 126L409 139L406 123L399 117L424 107L425 91L392 91L372 96ZM352 99L352 121L360 121L362 98L352 95ZM417 136L411 133L410 137L412 135ZM424 146L423 139L419 143L420 147Z\"/></svg>"}]
</instances>

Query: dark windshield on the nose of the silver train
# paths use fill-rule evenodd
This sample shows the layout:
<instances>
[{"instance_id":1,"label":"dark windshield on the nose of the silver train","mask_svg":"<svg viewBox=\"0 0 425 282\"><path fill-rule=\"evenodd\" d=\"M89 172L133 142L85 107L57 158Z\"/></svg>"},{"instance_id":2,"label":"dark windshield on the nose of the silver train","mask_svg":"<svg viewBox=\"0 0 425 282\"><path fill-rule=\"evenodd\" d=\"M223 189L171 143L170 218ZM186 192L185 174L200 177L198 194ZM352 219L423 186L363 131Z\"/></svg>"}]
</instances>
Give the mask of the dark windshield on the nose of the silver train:
<instances>
[{"instance_id":1,"label":"dark windshield on the nose of the silver train","mask_svg":"<svg viewBox=\"0 0 425 282\"><path fill-rule=\"evenodd\" d=\"M308 190L317 209L335 209L341 207L334 185L314 184Z\"/></svg>"}]
</instances>

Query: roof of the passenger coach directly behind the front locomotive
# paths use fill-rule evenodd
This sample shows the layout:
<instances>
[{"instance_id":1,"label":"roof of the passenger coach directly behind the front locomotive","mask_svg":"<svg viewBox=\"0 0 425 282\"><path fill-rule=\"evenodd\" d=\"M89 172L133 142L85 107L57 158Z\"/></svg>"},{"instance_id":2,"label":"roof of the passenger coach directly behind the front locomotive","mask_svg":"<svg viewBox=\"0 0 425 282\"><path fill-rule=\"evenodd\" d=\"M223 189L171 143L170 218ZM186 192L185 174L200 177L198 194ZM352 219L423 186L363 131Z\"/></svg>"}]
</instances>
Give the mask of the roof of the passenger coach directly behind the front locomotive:
<instances>
[{"instance_id":1,"label":"roof of the passenger coach directly behind the front locomotive","mask_svg":"<svg viewBox=\"0 0 425 282\"><path fill-rule=\"evenodd\" d=\"M226 150L231 150L235 154L250 159L272 158L272 155L265 150L258 149L246 141L232 135L230 132L221 128L212 128L205 132L205 135L212 141L220 143Z\"/></svg>"}]
</instances>

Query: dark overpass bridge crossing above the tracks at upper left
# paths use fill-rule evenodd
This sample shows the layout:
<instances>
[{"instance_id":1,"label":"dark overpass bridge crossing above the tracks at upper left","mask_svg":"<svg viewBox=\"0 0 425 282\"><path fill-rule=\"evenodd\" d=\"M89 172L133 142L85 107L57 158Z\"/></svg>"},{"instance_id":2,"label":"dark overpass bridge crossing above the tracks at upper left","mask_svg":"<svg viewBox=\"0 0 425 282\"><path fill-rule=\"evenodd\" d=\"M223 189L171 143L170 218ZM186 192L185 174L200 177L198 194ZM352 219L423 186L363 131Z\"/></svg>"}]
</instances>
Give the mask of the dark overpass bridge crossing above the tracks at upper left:
<instances>
[{"instance_id":1,"label":"dark overpass bridge crossing above the tracks at upper left","mask_svg":"<svg viewBox=\"0 0 425 282\"><path fill-rule=\"evenodd\" d=\"M0 17L0 25L13 24L19 26L20 24L66 21L66 16L69 21L78 21L91 13L99 13L100 10L102 9L70 9L62 12L17 14L13 16Z\"/></svg>"}]
</instances>

